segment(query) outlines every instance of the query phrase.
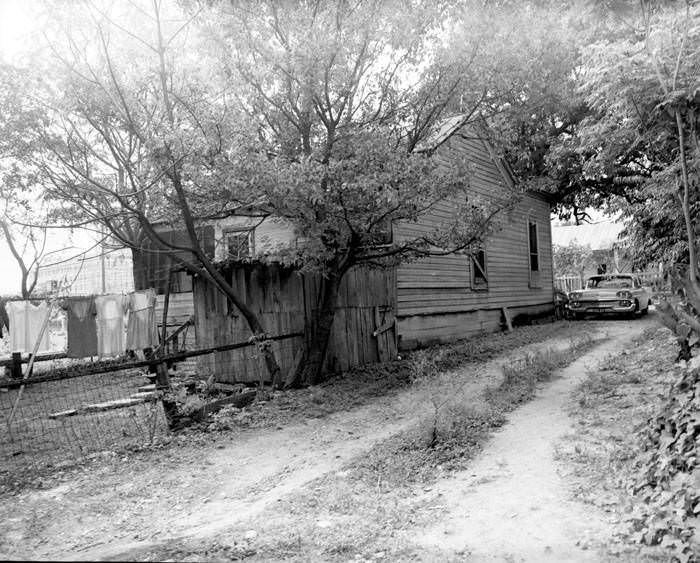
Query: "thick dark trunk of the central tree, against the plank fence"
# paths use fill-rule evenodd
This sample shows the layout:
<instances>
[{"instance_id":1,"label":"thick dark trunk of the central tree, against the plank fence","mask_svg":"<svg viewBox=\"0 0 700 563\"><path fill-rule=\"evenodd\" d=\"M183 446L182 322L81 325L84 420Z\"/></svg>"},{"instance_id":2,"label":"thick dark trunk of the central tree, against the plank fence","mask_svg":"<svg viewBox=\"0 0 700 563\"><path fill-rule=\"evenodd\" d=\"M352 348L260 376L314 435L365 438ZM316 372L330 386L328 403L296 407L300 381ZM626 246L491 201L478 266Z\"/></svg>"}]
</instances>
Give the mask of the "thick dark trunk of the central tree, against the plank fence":
<instances>
[{"instance_id":1,"label":"thick dark trunk of the central tree, against the plank fence","mask_svg":"<svg viewBox=\"0 0 700 563\"><path fill-rule=\"evenodd\" d=\"M315 385L323 376L323 364L328 352L328 343L335 319L335 308L338 302L338 290L343 280L343 272L331 274L321 286L319 309L312 327L311 339L306 344L306 350L293 379L287 381L286 387L298 383Z\"/></svg>"}]
</instances>

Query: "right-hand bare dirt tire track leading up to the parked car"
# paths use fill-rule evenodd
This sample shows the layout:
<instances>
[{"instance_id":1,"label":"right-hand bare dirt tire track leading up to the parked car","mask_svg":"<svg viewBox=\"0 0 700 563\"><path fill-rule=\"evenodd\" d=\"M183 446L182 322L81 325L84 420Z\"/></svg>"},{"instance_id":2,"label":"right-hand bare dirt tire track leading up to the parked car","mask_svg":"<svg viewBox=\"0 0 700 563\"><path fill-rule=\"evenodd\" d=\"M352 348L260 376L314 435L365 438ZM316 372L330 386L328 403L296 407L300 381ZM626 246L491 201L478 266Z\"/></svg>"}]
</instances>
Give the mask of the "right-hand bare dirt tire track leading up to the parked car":
<instances>
[{"instance_id":1,"label":"right-hand bare dirt tire track leading up to the parked car","mask_svg":"<svg viewBox=\"0 0 700 563\"><path fill-rule=\"evenodd\" d=\"M562 369L531 402L508 417L469 469L439 481L440 521L413 541L468 561L599 561L612 531L608 516L571 499L555 460L557 441L574 431L566 406L587 369L649 326L616 324L610 340Z\"/></svg>"}]
</instances>

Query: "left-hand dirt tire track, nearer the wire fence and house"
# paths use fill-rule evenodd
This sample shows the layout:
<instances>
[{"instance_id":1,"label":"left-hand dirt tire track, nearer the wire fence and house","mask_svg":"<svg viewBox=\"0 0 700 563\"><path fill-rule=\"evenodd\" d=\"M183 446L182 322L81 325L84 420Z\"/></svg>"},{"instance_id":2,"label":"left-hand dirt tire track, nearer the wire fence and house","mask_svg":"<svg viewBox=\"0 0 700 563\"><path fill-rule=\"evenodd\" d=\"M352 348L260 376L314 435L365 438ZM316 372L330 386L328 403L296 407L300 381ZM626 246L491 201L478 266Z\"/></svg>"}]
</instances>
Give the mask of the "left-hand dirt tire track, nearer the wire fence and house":
<instances>
[{"instance_id":1,"label":"left-hand dirt tire track, nearer the wire fence and house","mask_svg":"<svg viewBox=\"0 0 700 563\"><path fill-rule=\"evenodd\" d=\"M468 378L465 392L478 396L486 386L498 383L500 365L507 358L568 345L565 339L548 340L514 349L483 364L466 365L453 373L456 378ZM123 483L119 475L102 476L104 491L96 498L87 498L89 492L84 492L94 493L94 483L81 480L61 493L60 503L54 503L53 522L50 530L43 531L43 537L42 530L34 527L33 534L39 533L34 538L36 547L27 549L25 543L21 556L129 559L169 542L213 536L244 523L277 499L339 470L377 442L408 428L429 412L429 406L420 399L420 393L409 388L304 424L247 431L226 445L205 446L195 459L178 460L179 465L170 467L167 478L163 478L162 467L148 464L141 468L140 485ZM129 493L123 496L132 499L130 504L121 498L122 492ZM139 495L150 495L157 502L139 506L133 500ZM51 491L43 491L41 496L51 496ZM30 509L31 499L25 501ZM111 507L106 512L88 511L88 502L110 503ZM81 533L87 527L94 528L92 537ZM131 539L134 535L138 537Z\"/></svg>"}]
</instances>

